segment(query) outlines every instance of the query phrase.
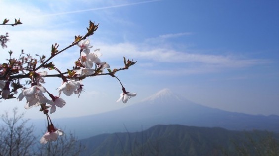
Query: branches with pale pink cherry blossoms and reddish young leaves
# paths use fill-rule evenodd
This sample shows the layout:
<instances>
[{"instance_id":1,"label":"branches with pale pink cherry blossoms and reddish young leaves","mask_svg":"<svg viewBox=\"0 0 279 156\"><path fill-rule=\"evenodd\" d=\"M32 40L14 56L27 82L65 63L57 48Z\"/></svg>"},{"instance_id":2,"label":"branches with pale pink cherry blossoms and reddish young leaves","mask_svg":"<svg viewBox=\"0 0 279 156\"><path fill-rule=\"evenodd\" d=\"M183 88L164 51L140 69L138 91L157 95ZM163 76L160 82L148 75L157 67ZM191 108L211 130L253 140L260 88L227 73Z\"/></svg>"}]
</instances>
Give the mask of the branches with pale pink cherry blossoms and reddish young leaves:
<instances>
[{"instance_id":1,"label":"branches with pale pink cherry blossoms and reddish young leaves","mask_svg":"<svg viewBox=\"0 0 279 156\"><path fill-rule=\"evenodd\" d=\"M3 24L6 24L8 20L5 19ZM16 20L11 26L22 24L20 20ZM110 65L107 62L101 62L100 57L102 54L99 52L100 49L92 49L90 45L90 40L87 37L94 34L98 25L93 22L89 22L89 28L87 28L87 33L84 37L75 36L75 41L63 50L58 50L59 45L54 44L51 47L51 56L46 59L44 55L39 56L39 59L32 57L30 54L25 54L22 50L19 59L12 58L12 51L9 51L10 58L7 59L7 63L0 64L0 99L11 99L17 98L18 101L26 99L25 109L30 109L32 107L40 106L40 111L46 114L47 117L47 132L40 139L40 143L45 144L48 141L56 141L57 137L63 135L64 132L56 127L54 127L49 113L56 112L56 108L62 108L65 106L66 102L60 96L65 94L66 96L71 96L80 94L83 92L82 79L86 77L109 75L116 78L121 85L122 93L120 94L120 99L117 102L122 101L126 103L129 98L136 96L136 93L126 92L120 79L115 76L115 73L120 70L126 70L130 66L134 65L136 62L132 60L127 60L124 57L124 67L119 69L110 69ZM8 39L7 39L8 40ZM5 41L7 41L5 40ZM67 72L60 71L53 62L50 60L63 51L69 49L70 47L77 45L80 48L80 55L78 56L75 66ZM40 65L38 65L40 63ZM39 72L44 70L42 72ZM45 70L56 70L58 74L48 75ZM108 72L104 72L107 69ZM45 83L46 77L58 77L62 80L61 86L57 88L58 95L53 95L49 93ZM22 83L23 79L28 79L25 84ZM17 90L21 89L21 93L15 97Z\"/></svg>"}]
</instances>

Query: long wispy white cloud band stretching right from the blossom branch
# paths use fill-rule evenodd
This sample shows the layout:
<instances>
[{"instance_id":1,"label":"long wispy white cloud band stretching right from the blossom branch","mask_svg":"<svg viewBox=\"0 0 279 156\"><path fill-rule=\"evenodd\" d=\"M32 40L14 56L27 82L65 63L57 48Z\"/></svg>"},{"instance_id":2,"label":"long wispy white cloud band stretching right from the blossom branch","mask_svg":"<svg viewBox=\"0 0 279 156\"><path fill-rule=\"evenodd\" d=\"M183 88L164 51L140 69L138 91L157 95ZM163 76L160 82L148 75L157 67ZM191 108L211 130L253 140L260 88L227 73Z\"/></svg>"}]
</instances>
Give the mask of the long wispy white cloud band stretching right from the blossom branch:
<instances>
[{"instance_id":1,"label":"long wispy white cloud band stretching right from the blossom branch","mask_svg":"<svg viewBox=\"0 0 279 156\"><path fill-rule=\"evenodd\" d=\"M97 45L100 46L104 54L109 54L107 56L108 58L117 58L124 55L131 58L150 60L159 63L199 63L226 68L241 68L270 63L270 61L263 59L240 58L233 55L200 54L201 52L196 54L169 48L154 48L152 45L146 44L144 50L141 48L141 44L133 43L118 43L110 45L97 43Z\"/></svg>"}]
</instances>

